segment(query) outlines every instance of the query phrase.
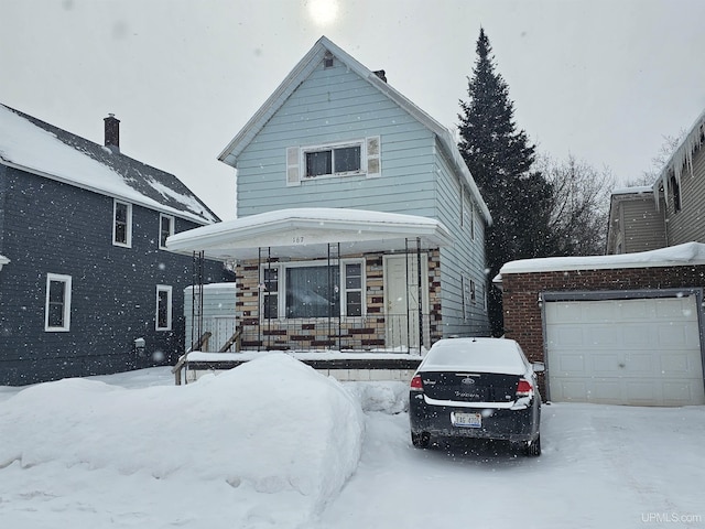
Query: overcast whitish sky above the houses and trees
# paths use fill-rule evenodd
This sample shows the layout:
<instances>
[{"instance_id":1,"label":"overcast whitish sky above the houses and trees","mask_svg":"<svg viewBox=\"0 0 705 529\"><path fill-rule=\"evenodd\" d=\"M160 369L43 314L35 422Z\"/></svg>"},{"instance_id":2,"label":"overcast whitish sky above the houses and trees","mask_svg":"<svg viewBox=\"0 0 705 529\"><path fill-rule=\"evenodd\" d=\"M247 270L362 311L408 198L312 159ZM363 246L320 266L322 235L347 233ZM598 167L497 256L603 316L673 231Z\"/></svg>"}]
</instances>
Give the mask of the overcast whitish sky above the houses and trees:
<instances>
[{"instance_id":1,"label":"overcast whitish sky above the houses and trees","mask_svg":"<svg viewBox=\"0 0 705 529\"><path fill-rule=\"evenodd\" d=\"M335 4L332 20L314 17ZM324 6L318 9L329 9ZM705 108L702 0L0 0L0 102L176 174L221 218L217 155L325 34L448 128L480 25L541 152L620 182Z\"/></svg>"}]
</instances>

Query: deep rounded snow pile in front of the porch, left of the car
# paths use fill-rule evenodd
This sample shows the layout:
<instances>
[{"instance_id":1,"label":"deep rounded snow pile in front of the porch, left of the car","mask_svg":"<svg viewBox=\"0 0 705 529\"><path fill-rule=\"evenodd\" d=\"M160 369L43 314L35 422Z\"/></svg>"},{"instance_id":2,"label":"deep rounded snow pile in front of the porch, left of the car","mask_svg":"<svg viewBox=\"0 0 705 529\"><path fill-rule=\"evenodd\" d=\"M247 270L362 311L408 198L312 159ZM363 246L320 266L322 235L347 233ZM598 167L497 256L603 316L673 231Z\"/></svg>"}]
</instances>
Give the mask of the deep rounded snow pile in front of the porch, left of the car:
<instances>
[{"instance_id":1,"label":"deep rounded snow pile in front of the porch, left of the car","mask_svg":"<svg viewBox=\"0 0 705 529\"><path fill-rule=\"evenodd\" d=\"M362 435L349 391L272 354L186 387L66 379L20 391L0 402L0 472L52 464L217 482L236 489L243 518L261 504L267 520L295 527L338 494Z\"/></svg>"}]
</instances>

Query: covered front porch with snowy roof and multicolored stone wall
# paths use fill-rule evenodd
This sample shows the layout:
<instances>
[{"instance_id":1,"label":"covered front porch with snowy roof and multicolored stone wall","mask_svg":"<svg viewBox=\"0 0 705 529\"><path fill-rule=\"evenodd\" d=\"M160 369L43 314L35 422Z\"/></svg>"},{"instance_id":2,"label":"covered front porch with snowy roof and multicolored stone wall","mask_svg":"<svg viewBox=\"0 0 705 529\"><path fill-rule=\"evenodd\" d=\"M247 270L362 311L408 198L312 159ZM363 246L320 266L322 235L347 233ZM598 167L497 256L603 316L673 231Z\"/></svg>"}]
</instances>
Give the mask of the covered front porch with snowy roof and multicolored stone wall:
<instances>
[{"instance_id":1,"label":"covered front porch with snowy roof and multicolored stone wall","mask_svg":"<svg viewBox=\"0 0 705 529\"><path fill-rule=\"evenodd\" d=\"M441 336L440 248L451 242L426 217L299 208L204 226L166 245L195 256L195 294L185 300L194 338L207 326L198 260L235 267L236 311L208 350L410 353Z\"/></svg>"}]
</instances>

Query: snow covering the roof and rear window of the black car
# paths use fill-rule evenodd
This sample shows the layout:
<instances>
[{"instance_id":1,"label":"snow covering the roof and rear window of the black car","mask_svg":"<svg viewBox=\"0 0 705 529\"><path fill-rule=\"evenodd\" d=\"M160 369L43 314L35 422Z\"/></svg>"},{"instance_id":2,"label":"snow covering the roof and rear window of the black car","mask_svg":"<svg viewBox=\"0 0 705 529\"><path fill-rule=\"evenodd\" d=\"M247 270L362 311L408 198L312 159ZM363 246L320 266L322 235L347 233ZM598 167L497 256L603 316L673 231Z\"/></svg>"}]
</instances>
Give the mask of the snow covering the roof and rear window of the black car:
<instances>
[{"instance_id":1,"label":"snow covering the roof and rear window of the black car","mask_svg":"<svg viewBox=\"0 0 705 529\"><path fill-rule=\"evenodd\" d=\"M433 344L420 371L471 370L523 375L520 347L506 338L447 338Z\"/></svg>"}]
</instances>

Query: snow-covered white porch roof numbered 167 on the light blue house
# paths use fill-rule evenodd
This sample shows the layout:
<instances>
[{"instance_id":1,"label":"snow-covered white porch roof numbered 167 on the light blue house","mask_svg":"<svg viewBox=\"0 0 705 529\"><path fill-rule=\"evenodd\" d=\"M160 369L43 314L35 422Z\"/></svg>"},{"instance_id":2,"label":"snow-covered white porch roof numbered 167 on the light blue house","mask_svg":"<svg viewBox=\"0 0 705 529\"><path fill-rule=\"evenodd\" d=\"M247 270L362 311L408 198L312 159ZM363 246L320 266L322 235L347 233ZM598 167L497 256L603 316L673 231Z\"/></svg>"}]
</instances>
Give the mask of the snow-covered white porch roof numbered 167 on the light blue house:
<instances>
[{"instance_id":1,"label":"snow-covered white porch roof numbered 167 on the light blue house","mask_svg":"<svg viewBox=\"0 0 705 529\"><path fill-rule=\"evenodd\" d=\"M279 209L182 231L166 248L212 259L254 259L260 248L270 257L313 258L340 244L340 255L415 250L448 246L453 237L438 220L414 215L328 207ZM409 241L409 242L408 242Z\"/></svg>"}]
</instances>

